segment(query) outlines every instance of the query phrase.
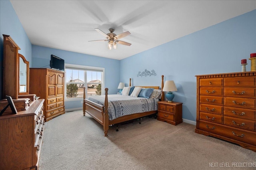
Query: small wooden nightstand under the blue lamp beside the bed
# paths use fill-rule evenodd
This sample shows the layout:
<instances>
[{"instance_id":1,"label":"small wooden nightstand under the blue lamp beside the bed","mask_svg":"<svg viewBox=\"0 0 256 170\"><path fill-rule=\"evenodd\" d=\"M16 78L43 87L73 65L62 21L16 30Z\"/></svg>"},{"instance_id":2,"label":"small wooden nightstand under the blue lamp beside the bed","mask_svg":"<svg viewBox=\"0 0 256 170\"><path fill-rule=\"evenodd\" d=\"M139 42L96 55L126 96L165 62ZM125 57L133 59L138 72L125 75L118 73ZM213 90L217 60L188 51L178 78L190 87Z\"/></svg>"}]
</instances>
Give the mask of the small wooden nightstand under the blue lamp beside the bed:
<instances>
[{"instance_id":1,"label":"small wooden nightstand under the blue lamp beside the bed","mask_svg":"<svg viewBox=\"0 0 256 170\"><path fill-rule=\"evenodd\" d=\"M182 103L159 101L157 120L172 125L182 123Z\"/></svg>"}]
</instances>

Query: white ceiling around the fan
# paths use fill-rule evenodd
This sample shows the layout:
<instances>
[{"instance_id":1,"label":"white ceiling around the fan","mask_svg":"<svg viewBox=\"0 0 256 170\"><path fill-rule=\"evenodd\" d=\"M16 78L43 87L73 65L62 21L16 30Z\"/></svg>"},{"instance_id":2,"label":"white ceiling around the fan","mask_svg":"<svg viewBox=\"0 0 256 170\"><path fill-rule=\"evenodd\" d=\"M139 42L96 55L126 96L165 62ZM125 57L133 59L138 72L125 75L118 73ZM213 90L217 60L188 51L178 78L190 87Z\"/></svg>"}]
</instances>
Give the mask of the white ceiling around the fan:
<instances>
[{"instance_id":1,"label":"white ceiling around the fan","mask_svg":"<svg viewBox=\"0 0 256 170\"><path fill-rule=\"evenodd\" d=\"M256 0L11 0L34 45L124 59L256 9ZM129 31L108 50L94 28L116 35Z\"/></svg>"}]
</instances>

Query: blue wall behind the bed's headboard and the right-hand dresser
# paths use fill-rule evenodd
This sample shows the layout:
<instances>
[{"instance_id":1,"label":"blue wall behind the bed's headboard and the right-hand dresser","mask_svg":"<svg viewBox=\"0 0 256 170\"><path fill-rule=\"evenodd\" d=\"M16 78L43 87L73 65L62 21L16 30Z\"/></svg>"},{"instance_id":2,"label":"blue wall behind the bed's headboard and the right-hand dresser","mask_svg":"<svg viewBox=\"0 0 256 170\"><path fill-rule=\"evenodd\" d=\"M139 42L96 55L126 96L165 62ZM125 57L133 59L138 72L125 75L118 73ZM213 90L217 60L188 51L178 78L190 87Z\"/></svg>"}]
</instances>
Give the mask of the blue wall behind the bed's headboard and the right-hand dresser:
<instances>
[{"instance_id":1,"label":"blue wall behind the bed's headboard and the right-hand dresser","mask_svg":"<svg viewBox=\"0 0 256 170\"><path fill-rule=\"evenodd\" d=\"M120 81L132 77L132 85L161 86L161 75L174 80L182 118L196 121L195 75L240 72L241 59L250 71L250 53L256 53L256 10L122 59ZM137 77L145 69L157 75Z\"/></svg>"}]
</instances>

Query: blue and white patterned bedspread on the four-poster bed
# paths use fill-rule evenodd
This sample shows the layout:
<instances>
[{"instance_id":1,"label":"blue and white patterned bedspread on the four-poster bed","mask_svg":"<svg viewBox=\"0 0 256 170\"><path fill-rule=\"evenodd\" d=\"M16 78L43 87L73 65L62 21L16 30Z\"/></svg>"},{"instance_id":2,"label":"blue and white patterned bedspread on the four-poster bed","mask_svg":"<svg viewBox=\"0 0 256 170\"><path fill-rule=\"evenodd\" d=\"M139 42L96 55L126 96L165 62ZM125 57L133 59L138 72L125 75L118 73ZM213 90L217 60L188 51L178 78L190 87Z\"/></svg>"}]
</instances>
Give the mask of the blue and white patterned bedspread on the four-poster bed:
<instances>
[{"instance_id":1,"label":"blue and white patterned bedspread on the four-poster bed","mask_svg":"<svg viewBox=\"0 0 256 170\"><path fill-rule=\"evenodd\" d=\"M105 95L89 96L86 99L103 106L105 105ZM144 97L108 95L109 120L112 121L118 117L134 113L156 111L158 101L158 98L146 99Z\"/></svg>"}]
</instances>

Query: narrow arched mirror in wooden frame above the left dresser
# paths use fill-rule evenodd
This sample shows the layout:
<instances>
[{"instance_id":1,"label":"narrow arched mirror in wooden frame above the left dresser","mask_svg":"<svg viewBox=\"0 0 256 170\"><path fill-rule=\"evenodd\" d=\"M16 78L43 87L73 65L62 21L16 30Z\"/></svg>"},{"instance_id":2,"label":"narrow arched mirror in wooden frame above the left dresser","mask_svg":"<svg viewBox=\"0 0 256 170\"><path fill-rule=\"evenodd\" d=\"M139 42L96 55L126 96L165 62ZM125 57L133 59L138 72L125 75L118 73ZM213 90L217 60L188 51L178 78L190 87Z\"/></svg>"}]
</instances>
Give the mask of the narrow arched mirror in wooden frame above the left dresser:
<instances>
[{"instance_id":1,"label":"narrow arched mirror in wooden frame above the left dresser","mask_svg":"<svg viewBox=\"0 0 256 170\"><path fill-rule=\"evenodd\" d=\"M19 56L19 95L29 94L29 62L21 54Z\"/></svg>"}]
</instances>

